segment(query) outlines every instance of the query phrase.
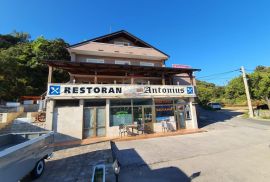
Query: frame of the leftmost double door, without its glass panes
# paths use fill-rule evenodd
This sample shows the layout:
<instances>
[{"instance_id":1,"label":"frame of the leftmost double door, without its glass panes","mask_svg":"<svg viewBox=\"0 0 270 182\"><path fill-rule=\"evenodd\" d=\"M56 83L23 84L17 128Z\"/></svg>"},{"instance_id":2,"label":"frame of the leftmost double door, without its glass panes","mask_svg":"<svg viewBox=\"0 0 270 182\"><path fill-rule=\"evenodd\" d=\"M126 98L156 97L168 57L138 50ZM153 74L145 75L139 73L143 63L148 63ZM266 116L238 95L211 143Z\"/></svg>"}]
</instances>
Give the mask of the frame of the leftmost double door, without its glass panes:
<instances>
[{"instance_id":1,"label":"frame of the leftmost double door, without its glass panes","mask_svg":"<svg viewBox=\"0 0 270 182\"><path fill-rule=\"evenodd\" d=\"M106 117L105 117L105 121L104 121L104 123L105 123L105 125L104 125L104 127L97 127L97 108L103 108L104 109L104 114L106 115L106 106L91 106L91 107L83 107L83 110L84 109L94 109L94 116L93 116L93 119L94 119L94 123L93 123L93 127L92 128L85 128L84 127L84 114L83 114L83 133L82 133L82 138L83 139L87 139L87 138L97 138L97 137L104 137L104 136L106 136L107 135L107 127L106 127ZM83 112L84 113L84 112ZM97 136L97 129L98 128L104 128L105 129L105 134L104 134L104 136ZM84 131L85 130L90 130L90 129L93 129L93 133L94 133L94 135L93 136L89 136L89 137L85 137L84 136Z\"/></svg>"}]
</instances>

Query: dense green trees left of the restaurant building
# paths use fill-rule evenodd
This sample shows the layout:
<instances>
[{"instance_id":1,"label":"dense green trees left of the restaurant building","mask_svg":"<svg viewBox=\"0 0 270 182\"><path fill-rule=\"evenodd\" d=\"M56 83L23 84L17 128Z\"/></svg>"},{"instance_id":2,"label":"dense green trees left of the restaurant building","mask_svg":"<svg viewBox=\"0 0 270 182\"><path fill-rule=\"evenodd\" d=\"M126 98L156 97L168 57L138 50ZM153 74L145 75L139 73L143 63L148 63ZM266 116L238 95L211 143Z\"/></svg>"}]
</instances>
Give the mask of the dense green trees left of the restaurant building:
<instances>
[{"instance_id":1,"label":"dense green trees left of the restaurant building","mask_svg":"<svg viewBox=\"0 0 270 182\"><path fill-rule=\"evenodd\" d=\"M69 60L67 43L62 39L39 37L29 40L27 33L0 35L0 100L17 100L23 95L41 95L47 89L44 60ZM56 81L69 79L68 73L55 70Z\"/></svg>"}]
</instances>

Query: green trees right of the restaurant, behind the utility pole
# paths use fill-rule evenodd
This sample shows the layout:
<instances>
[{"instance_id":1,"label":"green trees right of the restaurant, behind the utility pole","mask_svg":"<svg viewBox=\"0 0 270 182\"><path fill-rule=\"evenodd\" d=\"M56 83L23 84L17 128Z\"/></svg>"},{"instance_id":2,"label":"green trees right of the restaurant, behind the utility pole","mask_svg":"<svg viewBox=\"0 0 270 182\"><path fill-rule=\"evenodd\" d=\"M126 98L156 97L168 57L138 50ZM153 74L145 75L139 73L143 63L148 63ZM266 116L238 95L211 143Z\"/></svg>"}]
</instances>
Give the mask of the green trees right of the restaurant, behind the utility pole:
<instances>
[{"instance_id":1,"label":"green trees right of the restaurant, behind the utility pole","mask_svg":"<svg viewBox=\"0 0 270 182\"><path fill-rule=\"evenodd\" d=\"M270 67L257 66L247 77L253 105L267 104L270 108ZM199 104L202 106L209 102L219 102L226 106L247 105L242 76L233 78L226 86L197 80L197 90Z\"/></svg>"}]
</instances>

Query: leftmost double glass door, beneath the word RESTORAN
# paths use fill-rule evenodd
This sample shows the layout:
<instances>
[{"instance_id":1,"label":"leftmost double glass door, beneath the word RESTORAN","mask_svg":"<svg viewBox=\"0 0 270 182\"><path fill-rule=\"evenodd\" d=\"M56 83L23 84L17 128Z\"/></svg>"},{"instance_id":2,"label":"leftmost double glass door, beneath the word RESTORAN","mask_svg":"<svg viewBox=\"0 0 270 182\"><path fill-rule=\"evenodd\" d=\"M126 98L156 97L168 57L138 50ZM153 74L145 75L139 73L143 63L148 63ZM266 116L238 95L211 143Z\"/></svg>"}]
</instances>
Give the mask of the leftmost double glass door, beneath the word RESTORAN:
<instances>
[{"instance_id":1,"label":"leftmost double glass door, beneath the word RESTORAN","mask_svg":"<svg viewBox=\"0 0 270 182\"><path fill-rule=\"evenodd\" d=\"M105 107L85 107L83 112L83 138L105 135Z\"/></svg>"}]
</instances>

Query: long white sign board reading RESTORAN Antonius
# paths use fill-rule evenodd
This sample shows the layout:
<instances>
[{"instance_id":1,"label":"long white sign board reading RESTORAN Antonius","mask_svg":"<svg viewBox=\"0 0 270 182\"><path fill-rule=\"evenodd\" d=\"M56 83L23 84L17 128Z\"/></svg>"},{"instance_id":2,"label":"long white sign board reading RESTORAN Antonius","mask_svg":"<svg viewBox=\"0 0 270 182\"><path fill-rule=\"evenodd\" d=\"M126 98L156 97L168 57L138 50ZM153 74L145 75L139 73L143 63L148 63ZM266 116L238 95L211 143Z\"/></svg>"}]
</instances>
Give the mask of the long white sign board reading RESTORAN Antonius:
<instances>
[{"instance_id":1,"label":"long white sign board reading RESTORAN Antonius","mask_svg":"<svg viewBox=\"0 0 270 182\"><path fill-rule=\"evenodd\" d=\"M48 84L47 98L162 98L196 97L192 85Z\"/></svg>"}]
</instances>

